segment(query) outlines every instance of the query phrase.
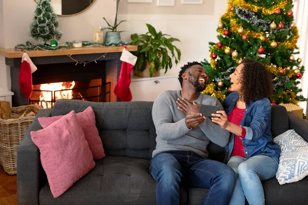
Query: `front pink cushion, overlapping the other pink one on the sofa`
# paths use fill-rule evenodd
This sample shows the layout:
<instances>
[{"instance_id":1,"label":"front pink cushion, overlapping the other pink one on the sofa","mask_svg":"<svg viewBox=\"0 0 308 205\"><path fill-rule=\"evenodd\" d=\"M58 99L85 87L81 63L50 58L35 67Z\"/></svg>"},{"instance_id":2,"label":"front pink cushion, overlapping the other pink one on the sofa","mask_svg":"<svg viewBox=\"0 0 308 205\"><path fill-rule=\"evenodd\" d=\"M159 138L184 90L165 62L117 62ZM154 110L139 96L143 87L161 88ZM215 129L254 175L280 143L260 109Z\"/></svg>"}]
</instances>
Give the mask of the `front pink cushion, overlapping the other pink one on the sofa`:
<instances>
[{"instance_id":1,"label":"front pink cushion, overlapping the other pink one on the sofa","mask_svg":"<svg viewBox=\"0 0 308 205\"><path fill-rule=\"evenodd\" d=\"M84 132L74 111L48 128L31 133L54 198L95 167Z\"/></svg>"}]
</instances>

